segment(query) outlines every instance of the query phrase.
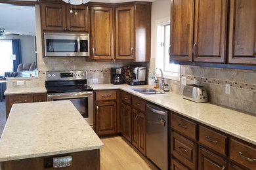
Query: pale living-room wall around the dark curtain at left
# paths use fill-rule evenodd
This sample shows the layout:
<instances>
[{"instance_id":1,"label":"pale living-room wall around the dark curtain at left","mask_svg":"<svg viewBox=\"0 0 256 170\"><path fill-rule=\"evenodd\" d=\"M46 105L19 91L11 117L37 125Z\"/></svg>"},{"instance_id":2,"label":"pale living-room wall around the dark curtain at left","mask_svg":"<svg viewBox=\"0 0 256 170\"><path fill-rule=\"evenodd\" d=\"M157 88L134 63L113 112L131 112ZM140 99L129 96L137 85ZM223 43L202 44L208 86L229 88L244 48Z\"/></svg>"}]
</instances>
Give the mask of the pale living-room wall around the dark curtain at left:
<instances>
[{"instance_id":1,"label":"pale living-room wall around the dark curtain at left","mask_svg":"<svg viewBox=\"0 0 256 170\"><path fill-rule=\"evenodd\" d=\"M5 35L5 39L20 39L22 48L22 63L35 62L35 36L34 35Z\"/></svg>"}]
</instances>

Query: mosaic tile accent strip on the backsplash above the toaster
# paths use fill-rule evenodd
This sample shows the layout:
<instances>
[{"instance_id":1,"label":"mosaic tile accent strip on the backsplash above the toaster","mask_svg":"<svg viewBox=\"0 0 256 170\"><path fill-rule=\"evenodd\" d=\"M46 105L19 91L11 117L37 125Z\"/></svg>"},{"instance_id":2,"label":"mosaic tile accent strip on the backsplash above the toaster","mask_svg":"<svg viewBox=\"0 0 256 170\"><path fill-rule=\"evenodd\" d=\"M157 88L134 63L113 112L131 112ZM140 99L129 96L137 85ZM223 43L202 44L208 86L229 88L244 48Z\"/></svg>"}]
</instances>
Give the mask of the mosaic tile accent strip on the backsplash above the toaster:
<instances>
[{"instance_id":1,"label":"mosaic tile accent strip on the backsplash above the toaster","mask_svg":"<svg viewBox=\"0 0 256 170\"><path fill-rule=\"evenodd\" d=\"M256 90L256 84L247 84L243 82L234 82L234 81L227 81L227 80L219 80L217 78L205 78L201 76L192 76L192 75L181 75L186 77L186 80L198 80L198 82L203 82L207 84L220 84L222 86L225 86L225 84L230 84L233 88L241 88L244 90Z\"/></svg>"}]
</instances>

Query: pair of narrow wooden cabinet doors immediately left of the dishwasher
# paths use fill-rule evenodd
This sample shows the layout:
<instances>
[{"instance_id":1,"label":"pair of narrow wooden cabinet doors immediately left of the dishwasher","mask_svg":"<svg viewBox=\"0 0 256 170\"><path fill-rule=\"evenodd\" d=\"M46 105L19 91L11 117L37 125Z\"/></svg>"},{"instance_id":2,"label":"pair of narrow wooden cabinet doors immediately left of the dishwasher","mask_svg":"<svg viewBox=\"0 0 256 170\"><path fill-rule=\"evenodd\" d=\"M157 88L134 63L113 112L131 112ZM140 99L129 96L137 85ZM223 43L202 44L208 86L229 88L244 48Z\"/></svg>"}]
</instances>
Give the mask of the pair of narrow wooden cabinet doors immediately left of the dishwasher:
<instances>
[{"instance_id":1,"label":"pair of narrow wooden cabinet doors immediately left of the dishwasher","mask_svg":"<svg viewBox=\"0 0 256 170\"><path fill-rule=\"evenodd\" d=\"M146 155L146 117L144 113L133 109L132 143L142 154Z\"/></svg>"}]
</instances>

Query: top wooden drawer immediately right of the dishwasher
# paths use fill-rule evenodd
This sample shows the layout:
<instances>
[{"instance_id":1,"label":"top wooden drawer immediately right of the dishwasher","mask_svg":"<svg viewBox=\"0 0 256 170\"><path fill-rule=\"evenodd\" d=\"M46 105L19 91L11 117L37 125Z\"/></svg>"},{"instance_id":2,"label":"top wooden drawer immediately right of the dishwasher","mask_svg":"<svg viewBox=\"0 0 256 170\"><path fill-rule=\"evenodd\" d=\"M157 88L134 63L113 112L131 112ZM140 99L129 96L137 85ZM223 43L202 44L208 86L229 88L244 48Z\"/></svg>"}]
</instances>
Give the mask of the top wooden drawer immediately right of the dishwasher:
<instances>
[{"instance_id":1,"label":"top wooden drawer immediately right of the dishwasher","mask_svg":"<svg viewBox=\"0 0 256 170\"><path fill-rule=\"evenodd\" d=\"M196 124L189 120L171 114L171 127L192 139L196 139Z\"/></svg>"}]
</instances>

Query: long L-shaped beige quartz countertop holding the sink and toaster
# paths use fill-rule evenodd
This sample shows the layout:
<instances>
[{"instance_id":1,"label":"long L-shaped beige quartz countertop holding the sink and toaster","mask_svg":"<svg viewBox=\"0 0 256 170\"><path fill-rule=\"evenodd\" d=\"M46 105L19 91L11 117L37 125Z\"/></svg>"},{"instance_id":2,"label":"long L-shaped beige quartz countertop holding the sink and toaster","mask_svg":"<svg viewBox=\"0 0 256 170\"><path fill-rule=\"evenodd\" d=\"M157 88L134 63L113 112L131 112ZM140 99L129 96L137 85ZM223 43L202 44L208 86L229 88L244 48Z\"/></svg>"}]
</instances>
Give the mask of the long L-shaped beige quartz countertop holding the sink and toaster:
<instances>
[{"instance_id":1,"label":"long L-shaped beige quartz countertop holding the sink and toaster","mask_svg":"<svg viewBox=\"0 0 256 170\"><path fill-rule=\"evenodd\" d=\"M195 103L193 101L188 101L183 99L182 95L173 92L145 95L131 90L131 88L148 88L149 86L129 86L126 84L90 84L89 86L91 86L93 90L121 89L155 103L156 105L160 105L161 107L165 107L166 109L256 145L256 116L226 109L210 103Z\"/></svg>"}]
</instances>

